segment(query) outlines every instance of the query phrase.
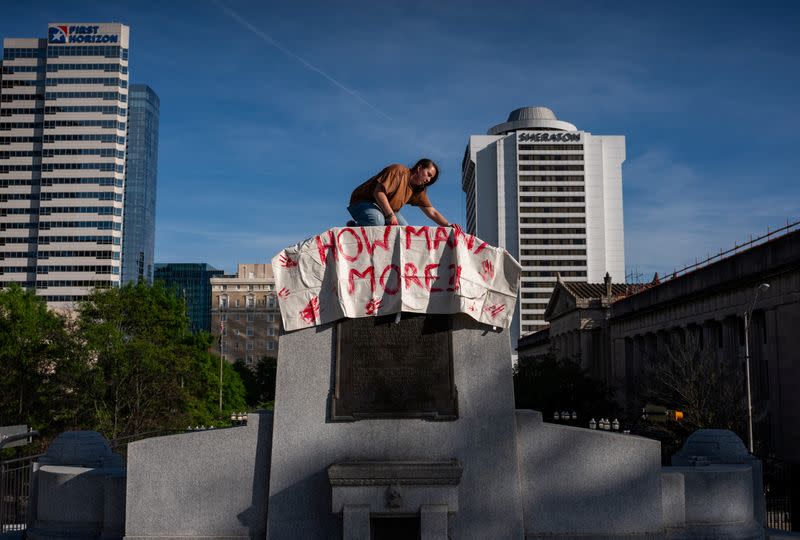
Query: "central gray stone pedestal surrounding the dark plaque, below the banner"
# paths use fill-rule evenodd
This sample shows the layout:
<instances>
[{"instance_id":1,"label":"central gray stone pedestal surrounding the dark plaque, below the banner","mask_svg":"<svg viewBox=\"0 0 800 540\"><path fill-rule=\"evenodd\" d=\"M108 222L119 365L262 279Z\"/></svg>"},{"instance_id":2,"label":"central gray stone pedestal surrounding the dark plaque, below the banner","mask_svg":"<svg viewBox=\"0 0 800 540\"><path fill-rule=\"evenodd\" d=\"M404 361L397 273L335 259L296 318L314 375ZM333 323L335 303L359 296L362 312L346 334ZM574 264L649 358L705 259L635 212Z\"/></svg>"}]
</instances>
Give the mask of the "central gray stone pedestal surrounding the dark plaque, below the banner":
<instances>
[{"instance_id":1,"label":"central gray stone pedestal surrounding the dark plaque, below the banner","mask_svg":"<svg viewBox=\"0 0 800 540\"><path fill-rule=\"evenodd\" d=\"M268 531L272 540L336 538L327 468L345 460L458 459L457 538L522 538L510 347L456 316L453 331L459 419L328 421L333 325L281 336Z\"/></svg>"}]
</instances>

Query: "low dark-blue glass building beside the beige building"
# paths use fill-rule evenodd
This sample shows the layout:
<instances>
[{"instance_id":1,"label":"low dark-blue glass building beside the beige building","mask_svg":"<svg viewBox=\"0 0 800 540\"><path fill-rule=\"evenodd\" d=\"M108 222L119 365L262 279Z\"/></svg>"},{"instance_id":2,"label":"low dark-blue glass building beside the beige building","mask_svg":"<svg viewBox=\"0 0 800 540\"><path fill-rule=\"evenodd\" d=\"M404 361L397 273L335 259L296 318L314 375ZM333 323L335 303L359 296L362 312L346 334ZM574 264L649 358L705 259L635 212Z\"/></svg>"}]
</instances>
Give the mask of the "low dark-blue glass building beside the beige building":
<instances>
[{"instance_id":1,"label":"low dark-blue glass building beside the beige building","mask_svg":"<svg viewBox=\"0 0 800 540\"><path fill-rule=\"evenodd\" d=\"M205 263L156 263L154 274L186 302L192 332L211 332L211 278L225 272Z\"/></svg>"}]
</instances>

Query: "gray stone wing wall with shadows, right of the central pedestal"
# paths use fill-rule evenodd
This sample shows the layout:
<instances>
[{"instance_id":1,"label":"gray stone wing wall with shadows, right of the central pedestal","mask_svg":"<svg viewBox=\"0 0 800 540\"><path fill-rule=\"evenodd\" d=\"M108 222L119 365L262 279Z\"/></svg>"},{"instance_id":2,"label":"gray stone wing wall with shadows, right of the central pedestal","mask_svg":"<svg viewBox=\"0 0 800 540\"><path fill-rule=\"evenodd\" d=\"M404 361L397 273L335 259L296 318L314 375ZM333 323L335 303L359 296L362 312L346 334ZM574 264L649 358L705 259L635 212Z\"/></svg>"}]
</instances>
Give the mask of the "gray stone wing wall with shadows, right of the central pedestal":
<instances>
[{"instance_id":1,"label":"gray stone wing wall with shadows, right of the central pedestal","mask_svg":"<svg viewBox=\"0 0 800 540\"><path fill-rule=\"evenodd\" d=\"M658 441L516 416L526 534L662 533Z\"/></svg>"}]
</instances>

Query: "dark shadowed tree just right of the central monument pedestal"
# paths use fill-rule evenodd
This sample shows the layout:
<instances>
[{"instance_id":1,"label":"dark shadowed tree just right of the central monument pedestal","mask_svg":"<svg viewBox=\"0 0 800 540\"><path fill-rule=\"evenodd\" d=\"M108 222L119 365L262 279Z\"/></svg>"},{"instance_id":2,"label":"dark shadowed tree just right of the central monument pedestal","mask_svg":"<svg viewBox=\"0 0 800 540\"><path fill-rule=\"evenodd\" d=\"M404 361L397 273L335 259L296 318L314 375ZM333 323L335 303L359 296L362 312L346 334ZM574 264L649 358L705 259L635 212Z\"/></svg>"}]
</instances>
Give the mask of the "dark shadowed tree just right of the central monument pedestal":
<instances>
[{"instance_id":1,"label":"dark shadowed tree just right of the central monument pedestal","mask_svg":"<svg viewBox=\"0 0 800 540\"><path fill-rule=\"evenodd\" d=\"M582 425L591 417L614 418L620 411L607 384L589 376L577 362L553 354L517 362L514 403L518 409L541 411L545 419L556 411L575 411Z\"/></svg>"}]
</instances>

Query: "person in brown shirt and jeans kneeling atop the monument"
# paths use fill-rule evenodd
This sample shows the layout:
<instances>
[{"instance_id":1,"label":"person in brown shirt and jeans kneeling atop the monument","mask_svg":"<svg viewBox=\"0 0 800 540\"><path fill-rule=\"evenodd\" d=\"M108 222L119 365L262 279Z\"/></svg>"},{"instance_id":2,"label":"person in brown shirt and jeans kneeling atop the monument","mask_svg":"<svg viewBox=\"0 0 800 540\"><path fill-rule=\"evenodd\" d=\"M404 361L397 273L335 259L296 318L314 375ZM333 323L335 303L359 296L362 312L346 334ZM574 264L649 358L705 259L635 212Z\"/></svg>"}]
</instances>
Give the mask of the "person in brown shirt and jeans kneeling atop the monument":
<instances>
[{"instance_id":1,"label":"person in brown shirt and jeans kneeling atop the monument","mask_svg":"<svg viewBox=\"0 0 800 540\"><path fill-rule=\"evenodd\" d=\"M400 215L405 204L418 206L422 213L442 227L453 225L433 207L426 190L439 178L439 166L430 159L420 159L410 169L389 165L358 186L350 195L347 211L353 226L408 225Z\"/></svg>"}]
</instances>

